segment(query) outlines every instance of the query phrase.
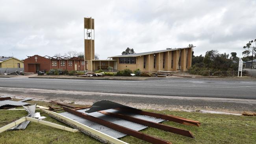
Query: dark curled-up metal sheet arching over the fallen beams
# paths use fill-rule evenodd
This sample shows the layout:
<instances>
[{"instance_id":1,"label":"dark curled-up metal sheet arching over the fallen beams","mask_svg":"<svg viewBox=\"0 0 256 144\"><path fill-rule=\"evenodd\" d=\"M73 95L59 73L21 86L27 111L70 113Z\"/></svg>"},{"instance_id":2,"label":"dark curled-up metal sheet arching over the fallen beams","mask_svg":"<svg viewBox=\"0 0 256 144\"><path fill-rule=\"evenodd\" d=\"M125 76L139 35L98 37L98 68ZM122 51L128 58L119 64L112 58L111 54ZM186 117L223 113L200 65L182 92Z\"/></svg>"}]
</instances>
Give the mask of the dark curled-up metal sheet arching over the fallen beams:
<instances>
[{"instance_id":1,"label":"dark curled-up metal sheet arching over the fallen beams","mask_svg":"<svg viewBox=\"0 0 256 144\"><path fill-rule=\"evenodd\" d=\"M93 113L96 111L102 111L106 109L114 109L114 108L128 108L128 109L135 109L133 107L128 107L126 105L122 105L120 103L111 102L109 100L101 100L96 103L93 103L92 107L86 111L86 113Z\"/></svg>"}]
</instances>

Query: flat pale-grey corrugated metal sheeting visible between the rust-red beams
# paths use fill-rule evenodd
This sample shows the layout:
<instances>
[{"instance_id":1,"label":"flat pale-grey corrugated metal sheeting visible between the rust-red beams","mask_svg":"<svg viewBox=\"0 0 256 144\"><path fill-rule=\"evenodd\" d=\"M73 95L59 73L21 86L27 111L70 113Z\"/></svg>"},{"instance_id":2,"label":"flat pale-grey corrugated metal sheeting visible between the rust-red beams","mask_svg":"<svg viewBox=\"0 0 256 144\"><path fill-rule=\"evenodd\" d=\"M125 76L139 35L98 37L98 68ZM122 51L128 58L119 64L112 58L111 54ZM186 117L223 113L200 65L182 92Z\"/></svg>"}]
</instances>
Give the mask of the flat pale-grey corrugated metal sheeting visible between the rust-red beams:
<instances>
[{"instance_id":1,"label":"flat pale-grey corrugated metal sheeting visible between the rust-red beams","mask_svg":"<svg viewBox=\"0 0 256 144\"><path fill-rule=\"evenodd\" d=\"M81 109L81 110L78 110L78 111L82 112L82 113L85 113L86 110L87 109ZM120 112L120 111L115 110L115 109L108 109L108 110L105 110L105 111L106 112L110 112L110 113ZM61 114L63 116L66 116L68 118L71 118L72 120L80 122L80 123L82 123L82 124L84 124L86 126L89 126L89 127L93 128L93 129L101 131L102 133L105 133L105 134L110 135L110 136L115 137L115 138L121 138L121 137L126 136L126 134L124 134L124 133L121 133L119 131L115 131L113 129L110 129L108 127L102 126L100 124L96 124L94 122L91 122L91 121L86 120L84 118L80 118L79 116L76 116L76 115L68 113L68 112L59 113L59 114ZM98 112L85 113L85 114L89 114L91 116L95 116L95 117L100 118L102 120L106 120L108 122L112 122L114 124L118 124L120 126L124 126L124 127L130 128L130 129L134 129L135 131L140 131L142 129L147 128L147 126L144 126L144 125L141 125L141 124L136 124L134 122L130 122L130 121L127 121L127 120L122 120L120 118L115 118L115 117L108 116L108 115L105 115L105 114L101 114L101 113L98 113ZM132 114L132 113L126 113L126 114L129 115L129 116L134 116L136 118L141 118L141 119L152 121L152 122L158 122L159 123L159 122L163 122L164 121L163 119L153 118L153 117L150 117L150 116L143 116L143 115Z\"/></svg>"}]
</instances>

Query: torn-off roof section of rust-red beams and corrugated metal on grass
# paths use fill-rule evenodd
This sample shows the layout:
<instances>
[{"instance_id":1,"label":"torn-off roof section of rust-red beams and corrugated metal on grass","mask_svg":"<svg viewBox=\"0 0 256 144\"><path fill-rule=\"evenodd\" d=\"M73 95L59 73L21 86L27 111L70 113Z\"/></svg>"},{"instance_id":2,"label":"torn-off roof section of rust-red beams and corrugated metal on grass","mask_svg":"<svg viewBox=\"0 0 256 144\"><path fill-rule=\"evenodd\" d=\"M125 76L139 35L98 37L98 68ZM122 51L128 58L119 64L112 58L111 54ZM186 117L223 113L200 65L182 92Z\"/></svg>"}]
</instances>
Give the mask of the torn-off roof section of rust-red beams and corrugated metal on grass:
<instances>
[{"instance_id":1,"label":"torn-off roof section of rust-red beams and corrugated metal on grass","mask_svg":"<svg viewBox=\"0 0 256 144\"><path fill-rule=\"evenodd\" d=\"M157 144L170 144L170 142L160 138L152 137L147 134L143 134L139 131L147 127L154 127L164 131L169 131L171 133L176 133L178 135L194 138L190 131L159 123L165 120L169 120L190 126L200 126L200 122L198 121L189 120L173 115L142 111L140 109L122 105L120 103L111 102L108 100L96 102L91 106L90 109L88 109L88 107L83 109L77 109L74 108L74 106L68 104L58 102L54 103L61 105L63 107L63 110L66 112L57 114L44 109L42 109L42 111L45 111L53 118L61 122L65 122L69 126L79 129L83 133L91 135L92 137L103 142L108 141L106 141L106 139L100 137L99 135L92 135L92 133L88 132L87 129L81 129L81 127L77 126L74 123L79 122L83 126L87 126L87 128L90 127L91 129L100 131L113 138L121 138L126 135L131 135L141 140ZM64 116L64 118L61 118L60 115ZM67 119L69 120L69 122L67 122Z\"/></svg>"}]
</instances>

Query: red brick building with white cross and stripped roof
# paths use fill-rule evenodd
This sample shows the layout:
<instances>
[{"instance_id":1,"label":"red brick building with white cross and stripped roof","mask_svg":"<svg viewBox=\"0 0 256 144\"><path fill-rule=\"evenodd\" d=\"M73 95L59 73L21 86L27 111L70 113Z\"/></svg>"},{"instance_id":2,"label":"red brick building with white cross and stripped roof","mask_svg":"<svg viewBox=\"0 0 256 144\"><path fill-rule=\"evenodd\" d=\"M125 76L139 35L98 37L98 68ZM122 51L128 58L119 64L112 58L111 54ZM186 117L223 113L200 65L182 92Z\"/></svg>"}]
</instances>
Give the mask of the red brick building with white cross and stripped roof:
<instances>
[{"instance_id":1,"label":"red brick building with white cross and stripped roof","mask_svg":"<svg viewBox=\"0 0 256 144\"><path fill-rule=\"evenodd\" d=\"M78 57L49 57L33 55L24 60L25 72L37 72L37 70L63 69L84 70L84 59Z\"/></svg>"}]
</instances>

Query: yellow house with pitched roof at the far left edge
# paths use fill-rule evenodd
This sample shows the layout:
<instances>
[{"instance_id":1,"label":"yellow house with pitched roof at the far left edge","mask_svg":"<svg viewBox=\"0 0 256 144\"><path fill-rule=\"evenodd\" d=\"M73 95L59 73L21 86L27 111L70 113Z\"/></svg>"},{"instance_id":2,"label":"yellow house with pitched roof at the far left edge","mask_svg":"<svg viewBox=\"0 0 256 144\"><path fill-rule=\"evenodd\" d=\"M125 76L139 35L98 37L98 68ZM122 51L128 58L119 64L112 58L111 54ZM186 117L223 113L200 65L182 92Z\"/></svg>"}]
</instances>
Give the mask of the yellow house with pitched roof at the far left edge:
<instances>
[{"instance_id":1,"label":"yellow house with pitched roof at the far left edge","mask_svg":"<svg viewBox=\"0 0 256 144\"><path fill-rule=\"evenodd\" d=\"M23 68L23 61L15 57L0 57L0 68Z\"/></svg>"}]
</instances>

